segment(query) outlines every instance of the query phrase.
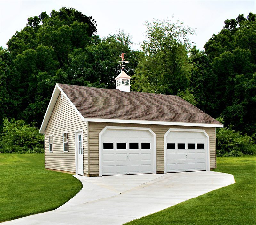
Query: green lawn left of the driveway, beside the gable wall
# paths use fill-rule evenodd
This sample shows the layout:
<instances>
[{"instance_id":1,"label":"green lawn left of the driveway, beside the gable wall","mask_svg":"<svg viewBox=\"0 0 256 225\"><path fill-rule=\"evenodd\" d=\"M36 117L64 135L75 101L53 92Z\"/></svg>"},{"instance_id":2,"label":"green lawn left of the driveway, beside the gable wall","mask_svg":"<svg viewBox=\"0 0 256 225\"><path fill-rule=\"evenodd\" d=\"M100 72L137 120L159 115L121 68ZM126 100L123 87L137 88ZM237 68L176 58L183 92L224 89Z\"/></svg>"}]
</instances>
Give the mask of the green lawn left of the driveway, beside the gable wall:
<instances>
[{"instance_id":1,"label":"green lawn left of the driveway, beside the gable wall","mask_svg":"<svg viewBox=\"0 0 256 225\"><path fill-rule=\"evenodd\" d=\"M44 154L0 154L0 222L58 208L81 190L71 174L44 169Z\"/></svg>"}]
</instances>

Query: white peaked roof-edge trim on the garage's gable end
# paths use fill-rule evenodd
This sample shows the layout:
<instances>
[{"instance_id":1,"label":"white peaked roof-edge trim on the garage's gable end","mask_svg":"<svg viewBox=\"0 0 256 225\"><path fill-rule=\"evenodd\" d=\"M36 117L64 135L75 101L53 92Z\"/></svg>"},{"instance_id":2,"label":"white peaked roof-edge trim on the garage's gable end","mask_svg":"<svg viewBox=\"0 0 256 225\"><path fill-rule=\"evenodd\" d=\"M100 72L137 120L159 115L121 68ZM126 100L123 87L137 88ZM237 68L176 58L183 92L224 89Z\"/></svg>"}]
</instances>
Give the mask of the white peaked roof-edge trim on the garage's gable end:
<instances>
[{"instance_id":1,"label":"white peaked roof-edge trim on the garage's gable end","mask_svg":"<svg viewBox=\"0 0 256 225\"><path fill-rule=\"evenodd\" d=\"M45 132L45 128L48 124L48 121L50 120L50 117L52 115L52 110L55 106L55 103L58 99L58 96L60 94L60 92L63 94L63 96L68 100L68 102L70 103L70 105L75 109L75 111L78 113L78 115L81 117L82 120L84 120L84 117L82 116L82 114L77 110L76 106L70 101L70 99L68 98L68 96L64 93L64 91L60 88L60 86L58 84L55 85L55 88L53 90L52 93L52 97L50 99L49 105L47 107L46 113L44 115L44 120L42 122L42 125L39 129L39 133L44 134Z\"/></svg>"}]
</instances>

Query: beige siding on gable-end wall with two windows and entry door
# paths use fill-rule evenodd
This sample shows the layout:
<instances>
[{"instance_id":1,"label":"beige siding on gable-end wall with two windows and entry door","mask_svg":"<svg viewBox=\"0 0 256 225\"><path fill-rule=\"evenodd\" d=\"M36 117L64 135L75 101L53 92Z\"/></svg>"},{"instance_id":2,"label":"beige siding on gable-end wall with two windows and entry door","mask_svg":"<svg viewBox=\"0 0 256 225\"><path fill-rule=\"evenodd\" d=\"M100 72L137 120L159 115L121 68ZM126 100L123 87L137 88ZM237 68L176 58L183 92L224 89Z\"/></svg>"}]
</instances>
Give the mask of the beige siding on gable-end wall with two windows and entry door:
<instances>
[{"instance_id":1,"label":"beige siding on gable-end wall with two windows and entry door","mask_svg":"<svg viewBox=\"0 0 256 225\"><path fill-rule=\"evenodd\" d=\"M59 97L45 129L45 168L75 173L75 131L83 129L84 173L88 174L88 134L84 122L68 100ZM63 152L63 132L68 131L68 152ZM53 152L49 152L49 135L52 135Z\"/></svg>"}]
</instances>

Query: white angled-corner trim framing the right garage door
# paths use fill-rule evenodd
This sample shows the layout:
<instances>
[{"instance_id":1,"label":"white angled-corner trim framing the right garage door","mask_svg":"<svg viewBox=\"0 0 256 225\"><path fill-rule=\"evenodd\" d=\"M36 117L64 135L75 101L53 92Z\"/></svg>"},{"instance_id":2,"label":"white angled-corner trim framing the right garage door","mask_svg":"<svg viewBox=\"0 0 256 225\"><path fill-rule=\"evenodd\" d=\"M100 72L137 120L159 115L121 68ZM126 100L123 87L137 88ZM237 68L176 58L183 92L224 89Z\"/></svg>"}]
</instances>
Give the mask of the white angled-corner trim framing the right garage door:
<instances>
[{"instance_id":1,"label":"white angled-corner trim framing the right garage door","mask_svg":"<svg viewBox=\"0 0 256 225\"><path fill-rule=\"evenodd\" d=\"M199 129L177 129L177 128L170 128L164 134L164 173L167 173L167 142L166 137L170 132L201 132L207 137L207 151L206 151L206 170L210 170L210 138L209 135L206 133L205 130Z\"/></svg>"}]
</instances>

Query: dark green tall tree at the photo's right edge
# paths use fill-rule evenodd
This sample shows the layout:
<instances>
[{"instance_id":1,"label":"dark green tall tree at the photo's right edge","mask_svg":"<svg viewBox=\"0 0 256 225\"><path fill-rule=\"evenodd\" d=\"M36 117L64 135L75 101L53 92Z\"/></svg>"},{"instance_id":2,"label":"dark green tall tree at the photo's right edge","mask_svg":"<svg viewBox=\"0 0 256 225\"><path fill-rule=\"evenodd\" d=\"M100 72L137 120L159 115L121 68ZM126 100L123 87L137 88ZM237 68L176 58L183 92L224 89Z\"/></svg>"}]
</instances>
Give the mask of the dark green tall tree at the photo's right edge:
<instances>
[{"instance_id":1,"label":"dark green tall tree at the photo's right edge","mask_svg":"<svg viewBox=\"0 0 256 225\"><path fill-rule=\"evenodd\" d=\"M220 33L213 34L204 45L215 78L212 93L216 104L212 111L216 117L224 118L225 126L232 125L236 131L249 135L256 131L255 17L249 13L247 18L238 15L226 20Z\"/></svg>"}]
</instances>

